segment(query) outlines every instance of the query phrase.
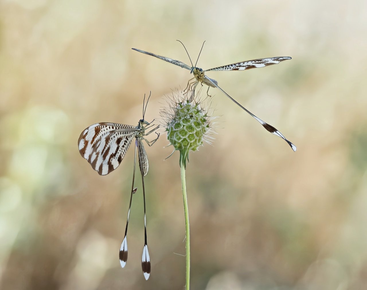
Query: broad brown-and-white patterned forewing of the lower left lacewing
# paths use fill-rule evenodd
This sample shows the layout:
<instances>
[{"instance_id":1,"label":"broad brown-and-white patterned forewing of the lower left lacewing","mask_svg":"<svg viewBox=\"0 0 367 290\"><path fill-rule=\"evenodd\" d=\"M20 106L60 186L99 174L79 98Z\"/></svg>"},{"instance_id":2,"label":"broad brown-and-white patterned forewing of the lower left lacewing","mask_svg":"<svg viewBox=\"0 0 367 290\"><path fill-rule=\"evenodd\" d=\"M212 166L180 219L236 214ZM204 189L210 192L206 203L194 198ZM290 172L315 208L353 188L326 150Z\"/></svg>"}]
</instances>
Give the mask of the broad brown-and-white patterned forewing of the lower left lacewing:
<instances>
[{"instance_id":1,"label":"broad brown-and-white patterned forewing of the lower left lacewing","mask_svg":"<svg viewBox=\"0 0 367 290\"><path fill-rule=\"evenodd\" d=\"M116 123L97 123L79 137L79 152L100 175L115 170L124 158L136 127Z\"/></svg>"}]
</instances>

